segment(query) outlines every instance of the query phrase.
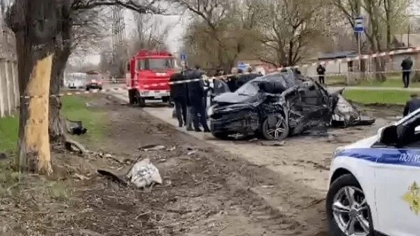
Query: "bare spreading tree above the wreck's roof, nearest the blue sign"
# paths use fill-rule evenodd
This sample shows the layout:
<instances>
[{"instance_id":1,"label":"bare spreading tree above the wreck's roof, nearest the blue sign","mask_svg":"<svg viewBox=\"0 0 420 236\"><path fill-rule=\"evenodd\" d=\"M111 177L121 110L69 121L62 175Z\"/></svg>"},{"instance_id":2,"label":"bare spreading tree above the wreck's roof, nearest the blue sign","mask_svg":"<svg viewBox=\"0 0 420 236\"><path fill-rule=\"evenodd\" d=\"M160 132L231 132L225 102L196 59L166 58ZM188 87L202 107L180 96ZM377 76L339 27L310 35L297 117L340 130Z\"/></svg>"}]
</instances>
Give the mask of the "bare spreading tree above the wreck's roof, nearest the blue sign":
<instances>
[{"instance_id":1,"label":"bare spreading tree above the wreck's roof, nearest the blue sign","mask_svg":"<svg viewBox=\"0 0 420 236\"><path fill-rule=\"evenodd\" d=\"M268 0L259 4L261 42L266 47L261 60L273 65L296 65L305 56L309 44L322 33L321 1L309 5L302 0Z\"/></svg>"}]
</instances>

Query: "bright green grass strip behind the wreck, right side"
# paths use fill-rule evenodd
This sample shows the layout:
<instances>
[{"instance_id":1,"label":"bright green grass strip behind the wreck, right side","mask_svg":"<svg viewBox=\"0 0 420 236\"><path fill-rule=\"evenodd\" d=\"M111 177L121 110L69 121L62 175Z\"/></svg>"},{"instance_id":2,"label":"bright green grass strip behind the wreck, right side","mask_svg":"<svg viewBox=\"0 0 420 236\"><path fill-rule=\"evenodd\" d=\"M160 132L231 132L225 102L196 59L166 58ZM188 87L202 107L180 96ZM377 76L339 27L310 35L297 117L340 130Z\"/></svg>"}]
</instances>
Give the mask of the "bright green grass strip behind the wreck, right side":
<instances>
[{"instance_id":1,"label":"bright green grass strip behind the wreck, right side","mask_svg":"<svg viewBox=\"0 0 420 236\"><path fill-rule=\"evenodd\" d=\"M388 105L405 105L410 99L412 92L408 91L392 91L392 90L345 90L344 97L346 99L369 104L388 104Z\"/></svg>"}]
</instances>

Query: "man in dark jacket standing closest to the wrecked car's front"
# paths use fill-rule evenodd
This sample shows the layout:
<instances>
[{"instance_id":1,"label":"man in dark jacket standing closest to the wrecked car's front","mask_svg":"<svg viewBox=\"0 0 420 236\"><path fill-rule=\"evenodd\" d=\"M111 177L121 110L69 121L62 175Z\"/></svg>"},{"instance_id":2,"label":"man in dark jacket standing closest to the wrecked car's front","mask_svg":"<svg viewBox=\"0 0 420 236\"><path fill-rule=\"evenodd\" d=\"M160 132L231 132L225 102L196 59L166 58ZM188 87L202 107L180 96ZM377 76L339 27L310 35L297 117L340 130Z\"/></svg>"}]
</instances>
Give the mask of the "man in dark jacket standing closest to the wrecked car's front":
<instances>
[{"instance_id":1,"label":"man in dark jacket standing closest to the wrecked car's front","mask_svg":"<svg viewBox=\"0 0 420 236\"><path fill-rule=\"evenodd\" d=\"M202 72L200 70L194 69L186 71L186 79L193 80L197 78L202 78ZM210 132L209 126L207 126L206 120L206 110L204 109L203 99L204 99L204 82L194 81L187 83L188 89L188 102L192 106L193 114L193 123L194 129L197 132L201 132L198 122L202 124L204 132ZM188 127L187 127L188 128Z\"/></svg>"}]
</instances>

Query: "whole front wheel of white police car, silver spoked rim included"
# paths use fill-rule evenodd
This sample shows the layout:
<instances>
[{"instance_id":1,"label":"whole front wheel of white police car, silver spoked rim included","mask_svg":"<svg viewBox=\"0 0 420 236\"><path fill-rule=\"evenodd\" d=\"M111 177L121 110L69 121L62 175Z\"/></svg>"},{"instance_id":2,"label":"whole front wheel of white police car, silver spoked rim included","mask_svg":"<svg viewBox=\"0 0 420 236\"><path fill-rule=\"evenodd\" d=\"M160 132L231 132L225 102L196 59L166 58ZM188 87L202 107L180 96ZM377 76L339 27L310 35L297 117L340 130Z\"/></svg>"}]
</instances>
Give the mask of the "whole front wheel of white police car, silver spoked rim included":
<instances>
[{"instance_id":1,"label":"whole front wheel of white police car, silver spoked rim included","mask_svg":"<svg viewBox=\"0 0 420 236\"><path fill-rule=\"evenodd\" d=\"M357 179L346 174L328 189L326 208L330 235L373 236L371 210Z\"/></svg>"}]
</instances>

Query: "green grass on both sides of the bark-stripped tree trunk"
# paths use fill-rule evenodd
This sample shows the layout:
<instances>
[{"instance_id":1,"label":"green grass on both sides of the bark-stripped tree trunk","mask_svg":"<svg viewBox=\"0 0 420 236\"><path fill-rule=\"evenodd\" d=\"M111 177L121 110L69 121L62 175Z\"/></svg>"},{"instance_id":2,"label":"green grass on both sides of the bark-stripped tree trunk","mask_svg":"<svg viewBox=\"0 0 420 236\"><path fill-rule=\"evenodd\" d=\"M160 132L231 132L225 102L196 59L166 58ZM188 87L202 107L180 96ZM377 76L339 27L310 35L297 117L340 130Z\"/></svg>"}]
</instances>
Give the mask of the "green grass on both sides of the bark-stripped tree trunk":
<instances>
[{"instance_id":1,"label":"green grass on both sides of the bark-stripped tree trunk","mask_svg":"<svg viewBox=\"0 0 420 236\"><path fill-rule=\"evenodd\" d=\"M65 96L63 102L63 115L67 119L74 121L82 121L83 126L88 129L86 135L81 139L92 142L102 140L104 137L104 126L108 123L108 117L104 110L98 108L87 108L86 102L91 99L83 96ZM0 118L0 152L13 152L17 146L17 133L19 128L19 118L6 117Z\"/></svg>"}]
</instances>

